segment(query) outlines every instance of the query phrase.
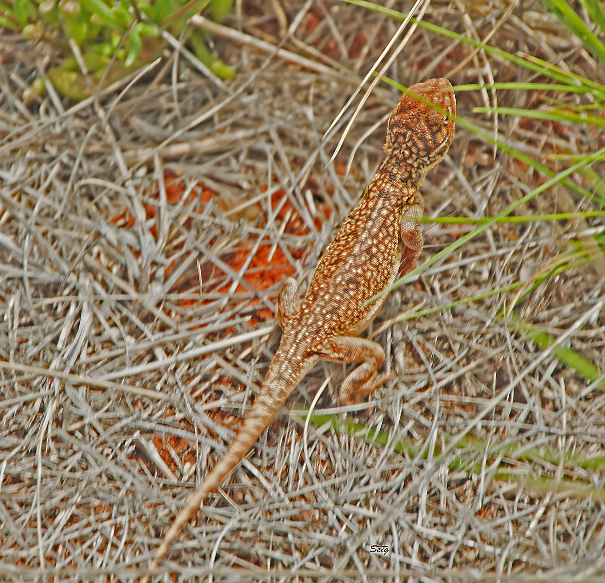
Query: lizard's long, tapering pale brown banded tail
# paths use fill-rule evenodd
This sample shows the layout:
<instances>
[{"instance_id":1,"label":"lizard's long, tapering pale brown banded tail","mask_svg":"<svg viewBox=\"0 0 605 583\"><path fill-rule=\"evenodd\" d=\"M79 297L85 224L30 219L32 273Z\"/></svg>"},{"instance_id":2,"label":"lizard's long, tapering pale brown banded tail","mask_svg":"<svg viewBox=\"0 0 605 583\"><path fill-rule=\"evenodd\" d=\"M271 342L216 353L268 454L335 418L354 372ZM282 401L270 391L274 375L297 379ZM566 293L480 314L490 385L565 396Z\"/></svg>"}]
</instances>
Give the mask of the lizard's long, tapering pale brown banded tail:
<instances>
[{"instance_id":1,"label":"lizard's long, tapering pale brown banded tail","mask_svg":"<svg viewBox=\"0 0 605 583\"><path fill-rule=\"evenodd\" d=\"M200 507L204 498L218 487L223 478L240 463L244 455L254 445L258 436L263 432L263 429L269 425L269 422L273 419L273 415L275 415L290 393L298 386L298 383L301 382L315 364L315 359L305 359L302 362L299 360L296 363L287 362L287 359L279 353L280 350L278 349L269 365L263 385L261 385L252 409L250 409L246 419L244 419L240 431L238 431L238 434L227 448L223 458L212 468L210 474L206 476L201 486L191 495L185 507L178 513L177 518L174 519L172 526L164 536L162 544L155 552L155 556L149 565L149 570L159 567L160 559L166 554L166 551L180 532L183 524ZM147 583L150 576L150 573L145 575L141 579L141 583Z\"/></svg>"}]
</instances>

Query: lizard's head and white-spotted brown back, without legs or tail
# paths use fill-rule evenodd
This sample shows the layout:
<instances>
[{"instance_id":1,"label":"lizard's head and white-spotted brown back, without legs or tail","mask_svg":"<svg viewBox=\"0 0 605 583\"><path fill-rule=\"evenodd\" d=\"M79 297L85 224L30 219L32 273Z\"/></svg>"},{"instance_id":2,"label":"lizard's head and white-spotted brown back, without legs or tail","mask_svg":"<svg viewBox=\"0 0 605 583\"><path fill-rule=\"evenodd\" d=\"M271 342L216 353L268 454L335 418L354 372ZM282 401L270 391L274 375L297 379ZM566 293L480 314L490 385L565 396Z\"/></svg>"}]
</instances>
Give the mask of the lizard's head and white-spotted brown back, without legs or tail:
<instances>
[{"instance_id":1,"label":"lizard's head and white-spotted brown back, without legs or tail","mask_svg":"<svg viewBox=\"0 0 605 583\"><path fill-rule=\"evenodd\" d=\"M397 275L402 215L425 174L450 147L451 116L456 114L450 82L431 79L408 91L439 109L404 94L391 113L384 146L387 158L325 250L292 322L292 327L314 337L356 336L370 323L386 295L372 304L365 302Z\"/></svg>"}]
</instances>

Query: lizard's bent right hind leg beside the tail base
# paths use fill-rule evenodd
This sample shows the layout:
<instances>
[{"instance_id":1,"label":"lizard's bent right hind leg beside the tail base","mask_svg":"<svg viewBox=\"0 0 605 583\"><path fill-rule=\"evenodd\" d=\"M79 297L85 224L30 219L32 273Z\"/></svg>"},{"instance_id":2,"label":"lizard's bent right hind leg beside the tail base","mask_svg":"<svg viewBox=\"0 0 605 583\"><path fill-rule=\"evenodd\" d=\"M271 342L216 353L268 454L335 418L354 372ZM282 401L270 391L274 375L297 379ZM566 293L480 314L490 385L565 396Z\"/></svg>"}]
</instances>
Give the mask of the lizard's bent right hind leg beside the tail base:
<instances>
[{"instance_id":1,"label":"lizard's bent right hind leg beside the tail base","mask_svg":"<svg viewBox=\"0 0 605 583\"><path fill-rule=\"evenodd\" d=\"M355 336L332 336L321 343L319 357L332 362L363 361L342 382L338 392L341 405L360 403L371 392L384 385L387 380L396 377L394 374L378 373L385 362L384 350L378 342L357 338Z\"/></svg>"}]
</instances>

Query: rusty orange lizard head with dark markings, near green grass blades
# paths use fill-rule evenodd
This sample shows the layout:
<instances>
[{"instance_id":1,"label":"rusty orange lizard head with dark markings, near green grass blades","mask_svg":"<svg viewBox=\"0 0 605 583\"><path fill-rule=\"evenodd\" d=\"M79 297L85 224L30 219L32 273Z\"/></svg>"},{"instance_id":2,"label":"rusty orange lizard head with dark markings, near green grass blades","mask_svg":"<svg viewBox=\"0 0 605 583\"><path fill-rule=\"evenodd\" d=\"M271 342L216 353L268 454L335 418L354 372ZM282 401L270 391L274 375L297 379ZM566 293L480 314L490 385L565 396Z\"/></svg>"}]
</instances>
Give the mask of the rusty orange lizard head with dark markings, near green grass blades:
<instances>
[{"instance_id":1,"label":"rusty orange lizard head with dark markings, near green grass blades","mask_svg":"<svg viewBox=\"0 0 605 583\"><path fill-rule=\"evenodd\" d=\"M454 137L455 115L456 97L447 79L412 85L388 120L384 149L391 172L400 174L404 181L422 181L447 154Z\"/></svg>"}]
</instances>

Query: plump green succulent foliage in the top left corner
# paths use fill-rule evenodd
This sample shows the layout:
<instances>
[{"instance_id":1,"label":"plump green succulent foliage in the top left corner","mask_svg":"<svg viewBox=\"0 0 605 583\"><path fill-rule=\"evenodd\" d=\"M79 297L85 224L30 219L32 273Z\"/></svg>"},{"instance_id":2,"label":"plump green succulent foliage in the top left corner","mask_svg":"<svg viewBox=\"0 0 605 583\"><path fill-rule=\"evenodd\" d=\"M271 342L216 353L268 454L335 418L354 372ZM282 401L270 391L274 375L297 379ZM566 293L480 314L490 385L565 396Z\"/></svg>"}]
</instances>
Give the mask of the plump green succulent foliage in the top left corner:
<instances>
[{"instance_id":1,"label":"plump green succulent foliage in the top left corner","mask_svg":"<svg viewBox=\"0 0 605 583\"><path fill-rule=\"evenodd\" d=\"M195 13L208 8L212 18L222 20L232 5L233 0L0 0L0 26L58 48L64 62L51 68L48 78L65 96L85 99L101 80L108 85L157 58L166 46L162 28L178 35ZM76 42L88 77L80 71L70 41ZM215 74L225 79L234 75L208 50L203 32L191 31L186 42ZM38 83L26 97L34 99L41 91Z\"/></svg>"}]
</instances>

